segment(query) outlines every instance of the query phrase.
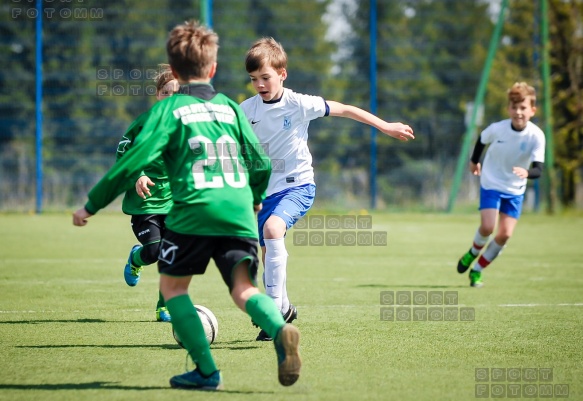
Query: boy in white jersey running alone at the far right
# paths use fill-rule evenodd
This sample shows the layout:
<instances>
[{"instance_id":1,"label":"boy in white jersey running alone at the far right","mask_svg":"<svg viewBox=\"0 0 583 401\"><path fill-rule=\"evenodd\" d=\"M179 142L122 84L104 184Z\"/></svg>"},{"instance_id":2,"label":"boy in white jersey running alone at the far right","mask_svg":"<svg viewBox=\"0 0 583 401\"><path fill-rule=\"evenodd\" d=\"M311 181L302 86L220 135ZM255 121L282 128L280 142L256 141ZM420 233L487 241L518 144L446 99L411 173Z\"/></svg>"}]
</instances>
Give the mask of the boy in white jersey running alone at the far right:
<instances>
[{"instance_id":1,"label":"boy in white jersey running alone at the far right","mask_svg":"<svg viewBox=\"0 0 583 401\"><path fill-rule=\"evenodd\" d=\"M512 236L524 200L527 178L539 178L545 159L544 133L530 122L536 112L532 86L517 82L508 90L509 119L488 126L476 142L470 171L480 177L481 224L474 242L458 262L458 273L465 273L488 243L498 220L498 232L470 270L470 285L482 287L482 270L502 252ZM486 145L484 167L480 155Z\"/></svg>"}]
</instances>

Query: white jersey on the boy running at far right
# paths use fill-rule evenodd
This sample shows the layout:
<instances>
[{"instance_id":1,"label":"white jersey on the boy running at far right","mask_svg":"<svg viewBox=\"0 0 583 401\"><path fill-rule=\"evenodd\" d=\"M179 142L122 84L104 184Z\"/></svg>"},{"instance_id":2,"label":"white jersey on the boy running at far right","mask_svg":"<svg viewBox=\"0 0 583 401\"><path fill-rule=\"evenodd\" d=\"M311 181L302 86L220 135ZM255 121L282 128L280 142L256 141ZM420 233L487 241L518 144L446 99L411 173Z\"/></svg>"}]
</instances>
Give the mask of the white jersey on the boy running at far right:
<instances>
[{"instance_id":1,"label":"white jersey on the boy running at far right","mask_svg":"<svg viewBox=\"0 0 583 401\"><path fill-rule=\"evenodd\" d=\"M490 144L484 158L480 184L510 195L522 195L526 178L519 178L513 167L530 168L532 162L545 161L545 135L530 121L522 131L512 129L511 120L490 124L480 135L484 145Z\"/></svg>"}]
</instances>

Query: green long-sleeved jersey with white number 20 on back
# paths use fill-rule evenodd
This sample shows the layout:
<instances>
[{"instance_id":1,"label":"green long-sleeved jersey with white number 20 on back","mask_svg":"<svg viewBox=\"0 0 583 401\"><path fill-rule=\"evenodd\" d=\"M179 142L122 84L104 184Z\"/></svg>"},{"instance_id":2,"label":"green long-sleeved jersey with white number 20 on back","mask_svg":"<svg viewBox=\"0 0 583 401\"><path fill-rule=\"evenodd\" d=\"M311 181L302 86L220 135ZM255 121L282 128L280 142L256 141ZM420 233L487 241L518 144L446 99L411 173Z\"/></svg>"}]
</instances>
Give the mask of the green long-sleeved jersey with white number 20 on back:
<instances>
[{"instance_id":1,"label":"green long-sleeved jersey with white number 20 on back","mask_svg":"<svg viewBox=\"0 0 583 401\"><path fill-rule=\"evenodd\" d=\"M174 201L168 229L257 238L253 205L265 198L271 162L239 105L206 84L183 86L152 107L132 148L89 192L87 211L133 187L160 156Z\"/></svg>"}]
</instances>

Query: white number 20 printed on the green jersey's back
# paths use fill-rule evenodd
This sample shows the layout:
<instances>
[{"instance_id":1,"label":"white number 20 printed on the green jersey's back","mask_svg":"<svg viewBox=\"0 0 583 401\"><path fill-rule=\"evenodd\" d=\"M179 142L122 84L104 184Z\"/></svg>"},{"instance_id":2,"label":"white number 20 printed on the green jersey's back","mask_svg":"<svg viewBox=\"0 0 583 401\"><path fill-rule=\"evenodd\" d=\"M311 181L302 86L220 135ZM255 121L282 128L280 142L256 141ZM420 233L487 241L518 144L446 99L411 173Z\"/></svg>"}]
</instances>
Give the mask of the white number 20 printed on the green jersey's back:
<instances>
[{"instance_id":1,"label":"white number 20 printed on the green jersey's back","mask_svg":"<svg viewBox=\"0 0 583 401\"><path fill-rule=\"evenodd\" d=\"M245 170L237 157L238 144L233 138L223 135L213 143L209 138L197 135L190 138L188 144L193 152L206 156L192 165L196 189L223 188L225 182L233 188L247 185Z\"/></svg>"}]
</instances>

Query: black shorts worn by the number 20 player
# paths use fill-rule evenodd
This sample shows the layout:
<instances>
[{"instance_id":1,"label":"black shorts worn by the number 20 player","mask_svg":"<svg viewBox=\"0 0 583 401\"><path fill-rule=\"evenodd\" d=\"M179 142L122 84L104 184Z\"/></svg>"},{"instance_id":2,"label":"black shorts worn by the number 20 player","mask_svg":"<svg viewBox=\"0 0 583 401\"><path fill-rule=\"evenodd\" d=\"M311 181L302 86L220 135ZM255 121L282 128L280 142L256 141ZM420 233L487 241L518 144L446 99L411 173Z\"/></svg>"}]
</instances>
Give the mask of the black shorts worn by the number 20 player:
<instances>
[{"instance_id":1,"label":"black shorts worn by the number 20 player","mask_svg":"<svg viewBox=\"0 0 583 401\"><path fill-rule=\"evenodd\" d=\"M158 272L175 277L204 274L212 258L231 292L233 268L248 260L249 278L257 286L258 244L255 238L185 235L166 230L158 256Z\"/></svg>"}]
</instances>

